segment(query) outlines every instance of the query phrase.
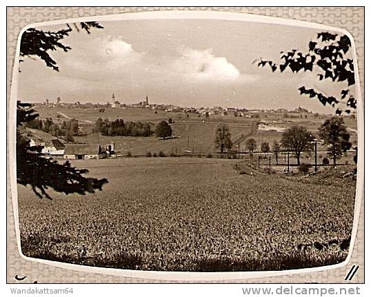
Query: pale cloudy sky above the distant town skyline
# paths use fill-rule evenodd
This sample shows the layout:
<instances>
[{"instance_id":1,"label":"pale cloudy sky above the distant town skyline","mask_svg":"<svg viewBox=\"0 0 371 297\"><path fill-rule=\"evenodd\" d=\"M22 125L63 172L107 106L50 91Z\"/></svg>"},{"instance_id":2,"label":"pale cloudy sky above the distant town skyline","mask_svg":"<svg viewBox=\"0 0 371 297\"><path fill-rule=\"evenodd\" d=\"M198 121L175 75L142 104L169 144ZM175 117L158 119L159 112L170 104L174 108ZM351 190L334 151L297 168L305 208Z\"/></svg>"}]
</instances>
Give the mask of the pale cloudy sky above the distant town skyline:
<instances>
[{"instance_id":1,"label":"pale cloudy sky above the distant town skyline","mask_svg":"<svg viewBox=\"0 0 371 297\"><path fill-rule=\"evenodd\" d=\"M305 107L334 113L301 96L302 85L339 96L343 83L319 81L311 72L257 68L257 59L279 61L281 51L305 51L317 31L287 25L197 19L101 22L103 29L71 32L72 50L49 52L59 72L26 57L19 99L27 102L150 103L188 107L278 109ZM58 30L65 25L42 30Z\"/></svg>"}]
</instances>

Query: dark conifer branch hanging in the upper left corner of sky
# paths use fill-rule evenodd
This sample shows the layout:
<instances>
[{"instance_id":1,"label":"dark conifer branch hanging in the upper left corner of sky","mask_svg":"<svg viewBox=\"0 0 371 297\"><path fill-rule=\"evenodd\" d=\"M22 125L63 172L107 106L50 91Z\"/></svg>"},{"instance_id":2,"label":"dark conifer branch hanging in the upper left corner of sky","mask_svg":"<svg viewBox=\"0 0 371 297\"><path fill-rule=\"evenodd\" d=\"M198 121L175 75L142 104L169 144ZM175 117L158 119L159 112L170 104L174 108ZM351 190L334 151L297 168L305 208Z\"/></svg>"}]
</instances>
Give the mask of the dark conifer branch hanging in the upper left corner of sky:
<instances>
[{"instance_id":1,"label":"dark conifer branch hanging in the upper left corner of sky","mask_svg":"<svg viewBox=\"0 0 371 297\"><path fill-rule=\"evenodd\" d=\"M64 52L68 52L71 50L70 46L64 45L61 43L61 40L65 37L68 37L68 34L72 31L72 26L66 24L66 29L58 30L57 32L51 31L43 31L37 30L35 28L28 28L22 34L21 38L21 49L19 55L21 57L39 57L43 60L46 65L53 70L59 71L57 66L57 62L50 57L49 51L53 50L63 50ZM89 21L79 23L73 23L74 28L79 32L79 30L85 30L90 34L90 30L92 28L103 28L99 23L96 21ZM21 62L23 59L20 60Z\"/></svg>"}]
</instances>

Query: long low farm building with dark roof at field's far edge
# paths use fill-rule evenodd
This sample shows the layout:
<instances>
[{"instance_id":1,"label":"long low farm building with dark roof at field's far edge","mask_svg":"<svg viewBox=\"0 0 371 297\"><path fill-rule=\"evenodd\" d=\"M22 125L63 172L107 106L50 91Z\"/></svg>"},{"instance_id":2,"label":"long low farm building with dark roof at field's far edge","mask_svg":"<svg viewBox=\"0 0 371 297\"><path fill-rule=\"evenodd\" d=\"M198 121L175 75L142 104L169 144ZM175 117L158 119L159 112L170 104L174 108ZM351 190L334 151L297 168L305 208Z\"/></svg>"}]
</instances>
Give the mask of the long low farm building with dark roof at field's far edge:
<instances>
[{"instance_id":1,"label":"long low farm building with dark roof at field's far edge","mask_svg":"<svg viewBox=\"0 0 371 297\"><path fill-rule=\"evenodd\" d=\"M106 158L106 148L95 144L66 144L63 158L87 160Z\"/></svg>"}]
</instances>

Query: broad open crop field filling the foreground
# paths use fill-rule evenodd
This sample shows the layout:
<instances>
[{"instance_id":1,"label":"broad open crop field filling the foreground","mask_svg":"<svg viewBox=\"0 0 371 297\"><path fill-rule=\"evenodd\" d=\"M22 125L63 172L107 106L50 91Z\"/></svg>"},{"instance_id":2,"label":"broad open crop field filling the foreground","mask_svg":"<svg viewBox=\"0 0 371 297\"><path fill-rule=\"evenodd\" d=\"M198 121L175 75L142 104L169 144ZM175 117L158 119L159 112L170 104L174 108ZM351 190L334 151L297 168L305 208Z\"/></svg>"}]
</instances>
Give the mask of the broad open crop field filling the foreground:
<instances>
[{"instance_id":1,"label":"broad open crop field filling the foreground","mask_svg":"<svg viewBox=\"0 0 371 297\"><path fill-rule=\"evenodd\" d=\"M236 165L237 164L237 165ZM39 199L19 186L23 254L123 269L256 271L340 263L348 254L355 181L267 175L243 161L75 161L102 192ZM317 176L318 179L318 176Z\"/></svg>"}]
</instances>

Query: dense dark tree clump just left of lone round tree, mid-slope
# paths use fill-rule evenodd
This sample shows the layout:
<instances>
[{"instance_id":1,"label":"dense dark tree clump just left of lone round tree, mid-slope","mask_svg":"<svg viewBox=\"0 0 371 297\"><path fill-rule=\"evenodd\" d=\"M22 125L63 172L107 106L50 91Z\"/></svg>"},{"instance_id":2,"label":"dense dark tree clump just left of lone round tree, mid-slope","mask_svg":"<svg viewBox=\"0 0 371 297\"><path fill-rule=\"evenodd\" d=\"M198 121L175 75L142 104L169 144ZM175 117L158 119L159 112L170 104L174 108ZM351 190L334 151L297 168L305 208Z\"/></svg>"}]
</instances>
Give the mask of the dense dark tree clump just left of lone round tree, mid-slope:
<instances>
[{"instance_id":1,"label":"dense dark tree clump just left of lone round tree, mid-slope","mask_svg":"<svg viewBox=\"0 0 371 297\"><path fill-rule=\"evenodd\" d=\"M152 134L148 122L123 121L123 119L110 121L101 118L95 122L93 132L100 132L106 136L151 136Z\"/></svg>"}]
</instances>

